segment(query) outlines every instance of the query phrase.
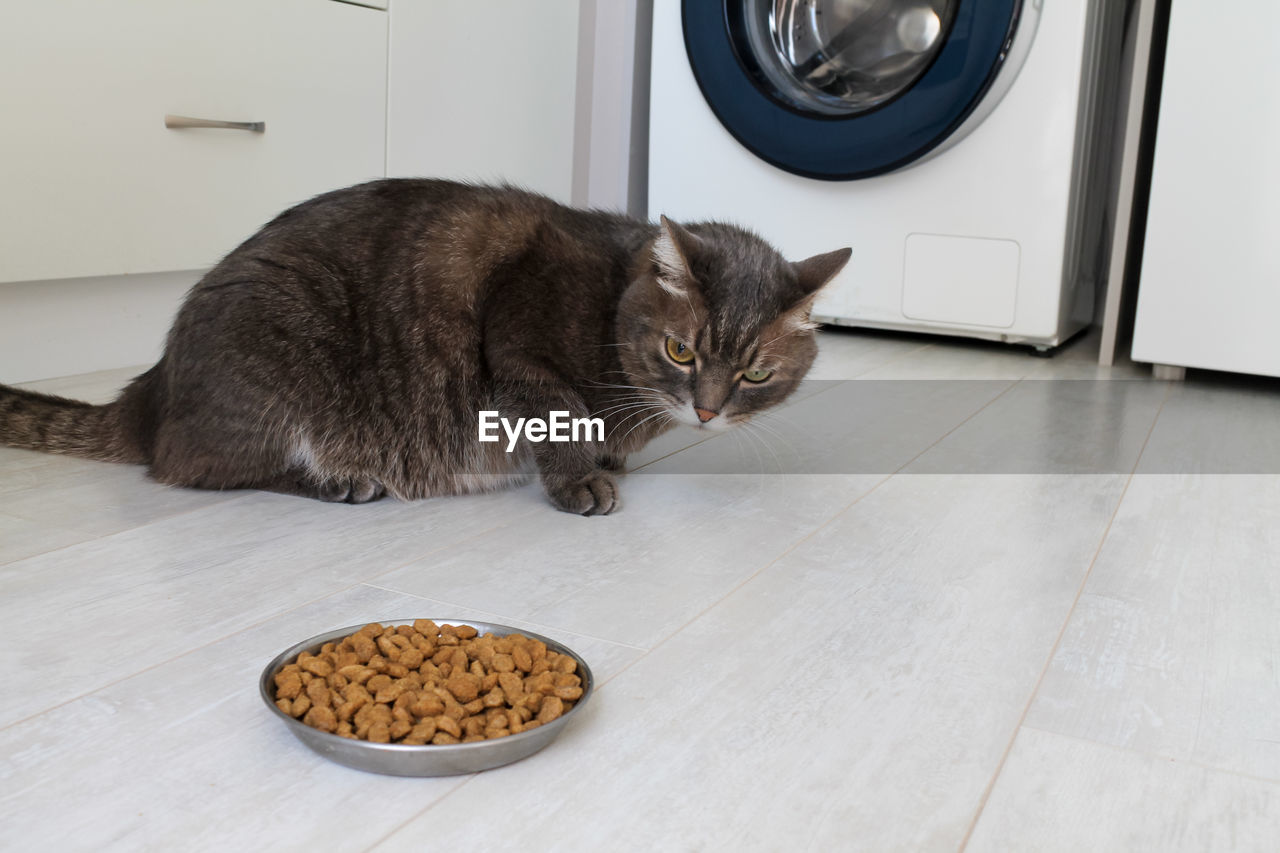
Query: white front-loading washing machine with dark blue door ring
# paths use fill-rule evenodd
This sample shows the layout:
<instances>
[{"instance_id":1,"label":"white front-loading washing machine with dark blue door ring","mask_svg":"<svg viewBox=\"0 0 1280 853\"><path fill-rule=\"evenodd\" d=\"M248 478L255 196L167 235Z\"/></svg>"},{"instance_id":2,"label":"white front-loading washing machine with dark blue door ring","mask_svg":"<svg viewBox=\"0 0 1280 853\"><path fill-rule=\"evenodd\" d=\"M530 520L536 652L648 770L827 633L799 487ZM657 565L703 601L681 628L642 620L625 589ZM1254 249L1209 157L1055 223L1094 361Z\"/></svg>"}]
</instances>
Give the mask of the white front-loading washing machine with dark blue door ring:
<instances>
[{"instance_id":1,"label":"white front-loading washing machine with dark blue door ring","mask_svg":"<svg viewBox=\"0 0 1280 853\"><path fill-rule=\"evenodd\" d=\"M1107 269L1128 0L655 0L649 210L850 246L841 325L1056 347Z\"/></svg>"}]
</instances>

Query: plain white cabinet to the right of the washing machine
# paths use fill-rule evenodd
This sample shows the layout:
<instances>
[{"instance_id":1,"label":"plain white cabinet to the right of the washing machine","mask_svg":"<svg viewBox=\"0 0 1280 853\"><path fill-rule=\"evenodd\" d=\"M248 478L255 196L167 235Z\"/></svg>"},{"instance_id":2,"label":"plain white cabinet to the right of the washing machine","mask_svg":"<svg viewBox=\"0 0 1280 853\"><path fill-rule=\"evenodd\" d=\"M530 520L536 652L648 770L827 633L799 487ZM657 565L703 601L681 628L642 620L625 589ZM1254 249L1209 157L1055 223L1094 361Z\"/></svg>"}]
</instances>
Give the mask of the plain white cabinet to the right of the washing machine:
<instances>
[{"instance_id":1,"label":"plain white cabinet to the right of the washing machine","mask_svg":"<svg viewBox=\"0 0 1280 853\"><path fill-rule=\"evenodd\" d=\"M1280 377L1280 6L1175 3L1134 361Z\"/></svg>"}]
</instances>

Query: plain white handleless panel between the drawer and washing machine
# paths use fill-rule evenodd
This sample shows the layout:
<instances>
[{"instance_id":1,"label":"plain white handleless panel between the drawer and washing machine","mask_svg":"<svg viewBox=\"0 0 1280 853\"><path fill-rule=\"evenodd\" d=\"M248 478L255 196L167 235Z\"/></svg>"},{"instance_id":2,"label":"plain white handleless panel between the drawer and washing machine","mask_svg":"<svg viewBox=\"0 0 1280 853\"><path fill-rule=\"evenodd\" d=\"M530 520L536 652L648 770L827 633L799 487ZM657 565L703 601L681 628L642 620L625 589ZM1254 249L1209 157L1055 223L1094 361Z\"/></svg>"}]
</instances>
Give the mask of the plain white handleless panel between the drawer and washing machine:
<instances>
[{"instance_id":1,"label":"plain white handleless panel between the drawer and washing machine","mask_svg":"<svg viewBox=\"0 0 1280 853\"><path fill-rule=\"evenodd\" d=\"M387 174L570 201L579 0L390 4Z\"/></svg>"}]
</instances>

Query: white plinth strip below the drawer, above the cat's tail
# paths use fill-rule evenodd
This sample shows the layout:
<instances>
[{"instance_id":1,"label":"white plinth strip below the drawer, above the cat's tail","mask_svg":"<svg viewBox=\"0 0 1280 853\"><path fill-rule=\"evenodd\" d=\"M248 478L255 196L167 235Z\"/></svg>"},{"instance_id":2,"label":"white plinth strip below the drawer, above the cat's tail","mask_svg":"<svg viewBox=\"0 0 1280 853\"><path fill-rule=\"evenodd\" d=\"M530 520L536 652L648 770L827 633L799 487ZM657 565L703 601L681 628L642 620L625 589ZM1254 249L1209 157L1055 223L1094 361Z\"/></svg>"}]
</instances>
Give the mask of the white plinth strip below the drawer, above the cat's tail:
<instances>
[{"instance_id":1,"label":"white plinth strip below the drawer, above the cat's tail","mask_svg":"<svg viewBox=\"0 0 1280 853\"><path fill-rule=\"evenodd\" d=\"M0 284L0 383L151 364L202 270Z\"/></svg>"}]
</instances>

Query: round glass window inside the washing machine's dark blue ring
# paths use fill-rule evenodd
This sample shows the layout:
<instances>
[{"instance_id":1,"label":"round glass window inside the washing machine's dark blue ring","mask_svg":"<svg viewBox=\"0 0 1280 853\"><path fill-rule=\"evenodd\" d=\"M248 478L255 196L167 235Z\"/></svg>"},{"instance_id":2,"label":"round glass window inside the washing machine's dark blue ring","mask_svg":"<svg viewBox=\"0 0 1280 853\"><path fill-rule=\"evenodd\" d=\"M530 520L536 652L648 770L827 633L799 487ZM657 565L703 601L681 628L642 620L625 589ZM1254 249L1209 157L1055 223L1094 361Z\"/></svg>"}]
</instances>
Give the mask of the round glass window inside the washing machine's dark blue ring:
<instances>
[{"instance_id":1,"label":"round glass window inside the washing machine's dark blue ring","mask_svg":"<svg viewBox=\"0 0 1280 853\"><path fill-rule=\"evenodd\" d=\"M788 106L855 115L886 104L937 58L957 0L748 0L740 56Z\"/></svg>"}]
</instances>

